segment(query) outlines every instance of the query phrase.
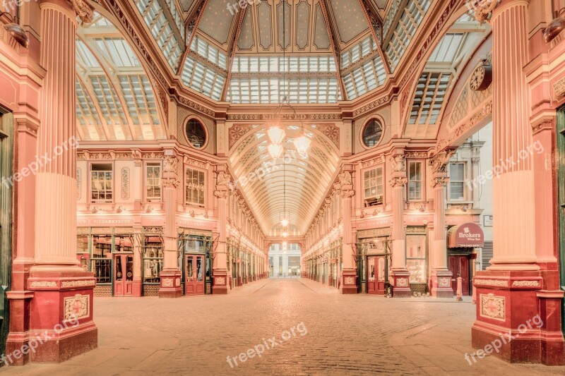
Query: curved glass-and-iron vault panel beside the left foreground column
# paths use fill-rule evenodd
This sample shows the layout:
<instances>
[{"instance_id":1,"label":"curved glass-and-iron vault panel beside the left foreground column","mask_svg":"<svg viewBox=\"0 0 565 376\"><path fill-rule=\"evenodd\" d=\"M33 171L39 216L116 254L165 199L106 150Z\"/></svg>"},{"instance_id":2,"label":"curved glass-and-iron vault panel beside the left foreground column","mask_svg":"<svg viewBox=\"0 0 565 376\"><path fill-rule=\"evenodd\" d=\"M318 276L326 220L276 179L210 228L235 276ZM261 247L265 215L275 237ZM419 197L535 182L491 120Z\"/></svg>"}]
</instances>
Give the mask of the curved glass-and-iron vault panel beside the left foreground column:
<instances>
[{"instance_id":1,"label":"curved glass-and-iron vault panel beside the left foreground column","mask_svg":"<svg viewBox=\"0 0 565 376\"><path fill-rule=\"evenodd\" d=\"M76 119L81 140L166 138L143 66L104 16L77 30Z\"/></svg>"}]
</instances>

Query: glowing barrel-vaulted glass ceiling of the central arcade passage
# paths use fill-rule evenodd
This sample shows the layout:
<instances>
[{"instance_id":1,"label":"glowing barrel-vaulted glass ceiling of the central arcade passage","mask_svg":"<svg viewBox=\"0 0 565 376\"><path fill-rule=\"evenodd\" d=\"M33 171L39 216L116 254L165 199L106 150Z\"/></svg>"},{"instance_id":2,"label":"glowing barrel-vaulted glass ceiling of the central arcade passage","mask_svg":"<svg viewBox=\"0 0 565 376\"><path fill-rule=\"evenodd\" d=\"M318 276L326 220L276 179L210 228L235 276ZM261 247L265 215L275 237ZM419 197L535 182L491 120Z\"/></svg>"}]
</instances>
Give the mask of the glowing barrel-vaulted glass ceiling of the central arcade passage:
<instances>
[{"instance_id":1,"label":"glowing barrel-vaulted glass ceiling of the central arcade passage","mask_svg":"<svg viewBox=\"0 0 565 376\"><path fill-rule=\"evenodd\" d=\"M300 128L287 126L285 162L282 158L273 161L268 154L266 130L255 129L239 141L230 155L234 177L265 234L280 236L283 212L289 214L289 234L304 234L333 183L338 155L322 135L307 128L312 143L307 156L300 156L292 144Z\"/></svg>"}]
</instances>

